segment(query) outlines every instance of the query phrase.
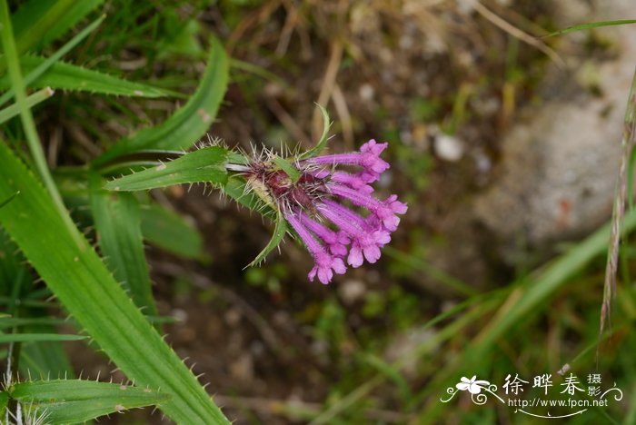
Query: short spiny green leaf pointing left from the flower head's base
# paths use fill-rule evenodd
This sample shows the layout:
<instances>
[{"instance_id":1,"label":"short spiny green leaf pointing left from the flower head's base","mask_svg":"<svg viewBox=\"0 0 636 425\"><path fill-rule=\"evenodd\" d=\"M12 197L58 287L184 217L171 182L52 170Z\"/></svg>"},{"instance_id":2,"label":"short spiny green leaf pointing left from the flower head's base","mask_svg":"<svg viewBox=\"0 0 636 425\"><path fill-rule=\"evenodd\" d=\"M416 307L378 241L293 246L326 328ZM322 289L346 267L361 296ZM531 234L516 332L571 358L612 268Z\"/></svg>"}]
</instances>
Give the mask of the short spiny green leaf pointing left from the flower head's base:
<instances>
[{"instance_id":1,"label":"short spiny green leaf pointing left from the flower head's base","mask_svg":"<svg viewBox=\"0 0 636 425\"><path fill-rule=\"evenodd\" d=\"M139 173L124 175L105 184L111 191L143 191L180 183L227 182L225 158L227 150L210 146L187 153L169 163L162 163Z\"/></svg>"}]
</instances>

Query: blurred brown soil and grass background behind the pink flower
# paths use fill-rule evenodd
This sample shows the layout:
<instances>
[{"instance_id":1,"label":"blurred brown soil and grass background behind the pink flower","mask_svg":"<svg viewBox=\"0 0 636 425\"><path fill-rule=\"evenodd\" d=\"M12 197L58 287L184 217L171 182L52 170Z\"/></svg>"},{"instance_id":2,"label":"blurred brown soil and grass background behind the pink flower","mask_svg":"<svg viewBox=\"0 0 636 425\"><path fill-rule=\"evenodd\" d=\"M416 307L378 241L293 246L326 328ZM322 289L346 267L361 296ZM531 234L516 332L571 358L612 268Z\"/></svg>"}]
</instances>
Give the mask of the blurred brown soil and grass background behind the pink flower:
<instances>
[{"instance_id":1,"label":"blurred brown soil and grass background behind the pink flower","mask_svg":"<svg viewBox=\"0 0 636 425\"><path fill-rule=\"evenodd\" d=\"M464 394L446 404L440 398L462 376L501 387L510 373L526 381L552 373L558 399L557 371L568 364L581 381L601 373L605 387L615 382L624 392L620 402L572 422L636 422L636 246L629 236L611 329L599 337L609 231L595 228L610 218L613 186L603 193L601 221L538 243L524 237L526 229L502 240L473 213L473 200L500 178L505 135L559 95L559 80L546 88L547 75L571 72L570 54L616 59L621 52L610 35L537 38L576 24L544 0L111 0L94 16L102 12L104 23L65 60L191 94L215 36L232 64L211 137L244 149L311 146L321 130L314 104L323 104L334 121L332 152L371 138L389 142L390 178L379 191L409 203L380 262L322 286L307 282L311 259L291 241L263 266L244 269L272 232L257 214L202 187L149 193L186 219L160 229L167 250L146 252L158 309L177 319L166 325L167 339L204 373L228 418L531 423L496 400L477 406ZM579 89L601 95L598 84ZM629 84L622 91L621 111ZM35 116L50 166L64 170L176 107L58 93ZM17 120L4 136L23 138ZM609 143L618 150L620 140ZM532 167L526 177L532 181ZM64 188L64 173L56 178ZM75 215L81 219L81 210ZM626 227L634 225L629 215ZM111 371L82 343L69 347L84 376ZM136 420L160 420L149 414Z\"/></svg>"}]
</instances>

